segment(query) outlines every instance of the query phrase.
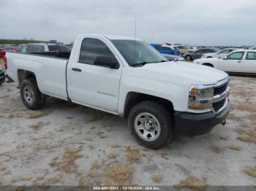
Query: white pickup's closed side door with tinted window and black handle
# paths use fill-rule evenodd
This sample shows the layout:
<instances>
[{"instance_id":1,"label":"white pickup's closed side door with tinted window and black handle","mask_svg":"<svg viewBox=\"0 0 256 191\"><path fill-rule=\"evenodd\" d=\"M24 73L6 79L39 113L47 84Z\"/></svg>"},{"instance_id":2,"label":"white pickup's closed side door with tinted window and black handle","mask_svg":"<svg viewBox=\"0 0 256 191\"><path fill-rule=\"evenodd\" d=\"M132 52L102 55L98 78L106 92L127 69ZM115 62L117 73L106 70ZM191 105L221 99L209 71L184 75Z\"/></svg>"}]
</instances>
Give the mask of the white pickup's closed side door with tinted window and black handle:
<instances>
[{"instance_id":1,"label":"white pickup's closed side door with tinted window and black handle","mask_svg":"<svg viewBox=\"0 0 256 191\"><path fill-rule=\"evenodd\" d=\"M79 51L79 50L78 50ZM97 57L116 59L110 47L97 38L85 38L80 55L69 66L69 98L75 103L117 112L122 65L118 69L94 65Z\"/></svg>"}]
</instances>

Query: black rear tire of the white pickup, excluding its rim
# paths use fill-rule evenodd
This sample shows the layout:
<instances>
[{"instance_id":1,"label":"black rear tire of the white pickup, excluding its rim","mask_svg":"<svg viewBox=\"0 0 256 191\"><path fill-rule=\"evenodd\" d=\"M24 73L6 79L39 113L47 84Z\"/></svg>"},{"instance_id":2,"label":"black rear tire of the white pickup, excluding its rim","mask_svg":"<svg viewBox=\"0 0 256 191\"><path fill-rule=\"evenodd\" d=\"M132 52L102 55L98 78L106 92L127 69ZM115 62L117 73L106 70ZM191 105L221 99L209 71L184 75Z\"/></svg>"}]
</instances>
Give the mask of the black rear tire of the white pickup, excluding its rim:
<instances>
[{"instance_id":1,"label":"black rear tire of the white pickup, excluding its rim","mask_svg":"<svg viewBox=\"0 0 256 191\"><path fill-rule=\"evenodd\" d=\"M33 93L33 98L31 99L31 103L26 101L25 94L24 94L24 88L30 87L31 92ZM38 86L37 81L34 78L24 79L20 84L20 97L23 101L23 104L31 110L37 110L42 109L43 106L45 106L45 95L43 95Z\"/></svg>"}]
</instances>

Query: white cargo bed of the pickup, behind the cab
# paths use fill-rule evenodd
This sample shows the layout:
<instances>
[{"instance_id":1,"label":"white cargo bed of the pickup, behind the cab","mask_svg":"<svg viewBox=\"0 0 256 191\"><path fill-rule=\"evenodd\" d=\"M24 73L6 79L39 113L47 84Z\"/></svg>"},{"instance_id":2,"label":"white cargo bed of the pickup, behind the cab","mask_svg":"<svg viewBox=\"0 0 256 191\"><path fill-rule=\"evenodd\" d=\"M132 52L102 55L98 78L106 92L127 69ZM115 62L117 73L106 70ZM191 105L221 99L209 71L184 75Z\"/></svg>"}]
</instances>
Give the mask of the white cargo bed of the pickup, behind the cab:
<instances>
[{"instance_id":1,"label":"white cargo bed of the pickup, behind the cab","mask_svg":"<svg viewBox=\"0 0 256 191\"><path fill-rule=\"evenodd\" d=\"M39 90L46 95L67 99L67 52L7 52L7 75L20 84L19 71L31 71L37 77Z\"/></svg>"}]
</instances>

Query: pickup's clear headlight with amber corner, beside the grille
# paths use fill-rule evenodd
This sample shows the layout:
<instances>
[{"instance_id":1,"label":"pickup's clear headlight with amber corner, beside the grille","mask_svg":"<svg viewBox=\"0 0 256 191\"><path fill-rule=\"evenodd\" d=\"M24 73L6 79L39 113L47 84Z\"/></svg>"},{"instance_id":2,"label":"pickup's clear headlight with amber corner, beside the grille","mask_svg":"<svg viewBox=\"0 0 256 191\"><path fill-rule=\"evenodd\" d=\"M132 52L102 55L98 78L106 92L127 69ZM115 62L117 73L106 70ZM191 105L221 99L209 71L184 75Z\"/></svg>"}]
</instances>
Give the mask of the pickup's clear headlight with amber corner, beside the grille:
<instances>
[{"instance_id":1,"label":"pickup's clear headlight with amber corner, beside the grille","mask_svg":"<svg viewBox=\"0 0 256 191\"><path fill-rule=\"evenodd\" d=\"M192 86L189 90L189 109L205 110L211 109L212 103L208 98L214 97L214 87Z\"/></svg>"}]
</instances>

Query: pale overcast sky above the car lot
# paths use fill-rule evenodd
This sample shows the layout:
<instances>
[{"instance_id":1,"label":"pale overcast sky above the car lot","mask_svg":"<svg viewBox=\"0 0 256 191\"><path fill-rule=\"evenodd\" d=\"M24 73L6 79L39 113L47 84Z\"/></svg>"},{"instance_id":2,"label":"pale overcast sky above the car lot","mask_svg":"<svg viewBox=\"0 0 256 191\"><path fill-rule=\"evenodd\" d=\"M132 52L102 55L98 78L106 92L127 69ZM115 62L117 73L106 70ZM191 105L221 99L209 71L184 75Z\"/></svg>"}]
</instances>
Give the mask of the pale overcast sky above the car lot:
<instances>
[{"instance_id":1,"label":"pale overcast sky above the car lot","mask_svg":"<svg viewBox=\"0 0 256 191\"><path fill-rule=\"evenodd\" d=\"M256 45L255 0L0 0L0 39L135 36L135 17L146 42Z\"/></svg>"}]
</instances>

